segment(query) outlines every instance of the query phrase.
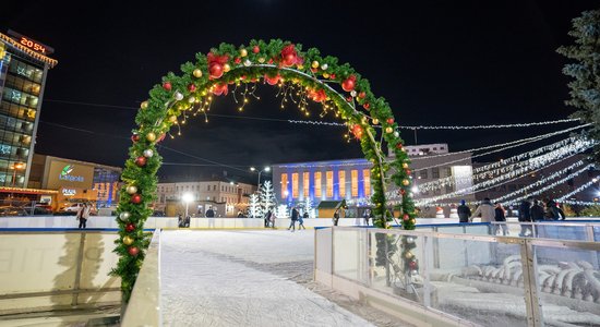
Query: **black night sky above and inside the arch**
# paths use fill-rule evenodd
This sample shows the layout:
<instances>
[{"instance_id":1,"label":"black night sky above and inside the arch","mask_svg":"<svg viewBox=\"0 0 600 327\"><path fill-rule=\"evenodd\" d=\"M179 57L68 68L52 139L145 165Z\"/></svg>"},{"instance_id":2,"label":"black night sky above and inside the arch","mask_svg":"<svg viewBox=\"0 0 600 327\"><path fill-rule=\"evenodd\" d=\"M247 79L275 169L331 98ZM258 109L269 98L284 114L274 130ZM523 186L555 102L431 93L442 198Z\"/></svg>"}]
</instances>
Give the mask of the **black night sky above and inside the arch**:
<instances>
[{"instance_id":1,"label":"black night sky above and inside the arch","mask_svg":"<svg viewBox=\"0 0 600 327\"><path fill-rule=\"evenodd\" d=\"M15 3L19 2L19 3ZM9 28L56 49L36 152L122 166L136 108L169 71L219 43L281 38L349 62L391 104L404 125L471 125L566 118L565 60L571 20L597 1L10 1ZM83 3L83 2L80 2ZM300 119L261 88L244 117ZM231 98L213 113L238 114ZM313 116L313 119L314 116ZM327 119L331 121L331 119ZM573 125L573 124L571 124ZM481 147L569 126L502 131L421 131L419 144ZM188 174L213 160L230 173L252 165L361 157L344 129L285 121L211 118L167 140L159 174ZM413 133L404 130L406 144ZM172 150L171 150L172 149Z\"/></svg>"}]
</instances>

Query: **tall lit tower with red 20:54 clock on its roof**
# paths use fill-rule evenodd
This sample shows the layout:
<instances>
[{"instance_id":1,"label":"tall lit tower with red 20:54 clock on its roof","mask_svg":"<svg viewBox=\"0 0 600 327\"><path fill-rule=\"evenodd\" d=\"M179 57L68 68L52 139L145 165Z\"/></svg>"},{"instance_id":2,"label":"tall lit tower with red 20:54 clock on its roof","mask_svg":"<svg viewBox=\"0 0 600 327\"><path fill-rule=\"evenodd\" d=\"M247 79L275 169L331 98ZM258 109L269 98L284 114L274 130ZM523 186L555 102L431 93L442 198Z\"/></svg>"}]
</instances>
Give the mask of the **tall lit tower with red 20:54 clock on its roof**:
<instances>
[{"instance_id":1,"label":"tall lit tower with red 20:54 clock on its roof","mask_svg":"<svg viewBox=\"0 0 600 327\"><path fill-rule=\"evenodd\" d=\"M0 186L25 187L53 49L19 33L0 33Z\"/></svg>"}]
</instances>

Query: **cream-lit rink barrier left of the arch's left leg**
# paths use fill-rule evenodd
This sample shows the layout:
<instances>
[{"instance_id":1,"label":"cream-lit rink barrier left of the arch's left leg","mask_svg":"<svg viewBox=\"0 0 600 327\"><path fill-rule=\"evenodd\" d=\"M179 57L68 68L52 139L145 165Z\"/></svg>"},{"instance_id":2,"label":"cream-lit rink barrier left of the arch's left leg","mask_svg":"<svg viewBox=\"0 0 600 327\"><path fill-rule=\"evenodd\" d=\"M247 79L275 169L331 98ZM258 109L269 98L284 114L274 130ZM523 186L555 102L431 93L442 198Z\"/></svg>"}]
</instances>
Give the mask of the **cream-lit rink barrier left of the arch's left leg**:
<instances>
[{"instance_id":1,"label":"cream-lit rink barrier left of the arch's left leg","mask_svg":"<svg viewBox=\"0 0 600 327\"><path fill-rule=\"evenodd\" d=\"M0 315L121 302L115 232L0 232Z\"/></svg>"}]
</instances>

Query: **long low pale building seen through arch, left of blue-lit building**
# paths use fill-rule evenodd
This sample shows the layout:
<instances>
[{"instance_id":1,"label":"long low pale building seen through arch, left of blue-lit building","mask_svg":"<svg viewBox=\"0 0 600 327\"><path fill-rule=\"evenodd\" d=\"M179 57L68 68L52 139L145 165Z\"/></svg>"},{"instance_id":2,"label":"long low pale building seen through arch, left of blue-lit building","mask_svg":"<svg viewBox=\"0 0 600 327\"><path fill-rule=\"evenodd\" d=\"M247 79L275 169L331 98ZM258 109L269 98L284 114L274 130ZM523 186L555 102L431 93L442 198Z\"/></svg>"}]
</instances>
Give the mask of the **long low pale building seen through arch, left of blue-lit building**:
<instances>
[{"instance_id":1,"label":"long low pale building seen through arch, left of blue-lit building","mask_svg":"<svg viewBox=\"0 0 600 327\"><path fill-rule=\"evenodd\" d=\"M247 211L250 194L256 185L236 183L228 180L211 179L197 182L158 183L154 209L166 216L188 215L204 217L212 208L215 217L235 217L238 211ZM183 202L183 195L191 194L192 201Z\"/></svg>"}]
</instances>

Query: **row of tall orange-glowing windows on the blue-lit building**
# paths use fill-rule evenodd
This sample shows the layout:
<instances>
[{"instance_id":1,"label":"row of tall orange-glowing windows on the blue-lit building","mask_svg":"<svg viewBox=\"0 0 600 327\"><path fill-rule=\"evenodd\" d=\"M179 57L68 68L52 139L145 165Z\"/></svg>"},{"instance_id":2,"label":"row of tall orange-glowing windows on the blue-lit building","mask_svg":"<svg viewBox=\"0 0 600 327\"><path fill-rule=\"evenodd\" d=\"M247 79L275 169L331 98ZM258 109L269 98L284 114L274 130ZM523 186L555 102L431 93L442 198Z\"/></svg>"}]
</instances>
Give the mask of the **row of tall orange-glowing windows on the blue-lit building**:
<instances>
[{"instance_id":1,"label":"row of tall orange-glowing windows on the blue-lit building","mask_svg":"<svg viewBox=\"0 0 600 327\"><path fill-rule=\"evenodd\" d=\"M339 192L339 197L346 197L347 195L347 175L345 170L337 171L337 182L334 183L334 171L325 172L325 197L334 197L334 189L337 189ZM359 171L357 169L350 170L350 196L358 197L359 194ZM299 197L299 172L291 173L291 197ZM364 191L364 196L371 195L371 170L362 170L362 186ZM288 191L288 173L281 173L281 197L287 197L289 194ZM314 197L322 197L323 195L323 172L315 171L313 172L313 185L314 185ZM302 172L302 195L304 197L309 196L311 187L311 173Z\"/></svg>"}]
</instances>

